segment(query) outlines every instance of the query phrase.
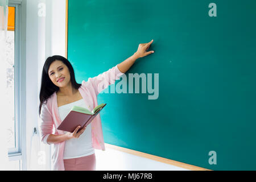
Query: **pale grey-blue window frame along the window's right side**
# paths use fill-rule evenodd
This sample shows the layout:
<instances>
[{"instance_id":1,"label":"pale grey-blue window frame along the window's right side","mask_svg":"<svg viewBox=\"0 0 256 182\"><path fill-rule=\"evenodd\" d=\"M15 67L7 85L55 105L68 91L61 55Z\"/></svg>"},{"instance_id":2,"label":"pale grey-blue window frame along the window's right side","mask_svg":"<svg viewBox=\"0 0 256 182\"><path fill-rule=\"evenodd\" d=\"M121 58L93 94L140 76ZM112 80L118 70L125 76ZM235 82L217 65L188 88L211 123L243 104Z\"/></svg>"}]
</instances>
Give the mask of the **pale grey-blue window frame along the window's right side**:
<instances>
[{"instance_id":1,"label":"pale grey-blue window frame along the window's right side","mask_svg":"<svg viewBox=\"0 0 256 182\"><path fill-rule=\"evenodd\" d=\"M22 64L26 63L26 42L23 40L26 37L26 3L22 0L9 0L8 6L15 7L15 147L8 149L8 156L10 161L19 160L20 170L26 170L26 64Z\"/></svg>"}]
</instances>

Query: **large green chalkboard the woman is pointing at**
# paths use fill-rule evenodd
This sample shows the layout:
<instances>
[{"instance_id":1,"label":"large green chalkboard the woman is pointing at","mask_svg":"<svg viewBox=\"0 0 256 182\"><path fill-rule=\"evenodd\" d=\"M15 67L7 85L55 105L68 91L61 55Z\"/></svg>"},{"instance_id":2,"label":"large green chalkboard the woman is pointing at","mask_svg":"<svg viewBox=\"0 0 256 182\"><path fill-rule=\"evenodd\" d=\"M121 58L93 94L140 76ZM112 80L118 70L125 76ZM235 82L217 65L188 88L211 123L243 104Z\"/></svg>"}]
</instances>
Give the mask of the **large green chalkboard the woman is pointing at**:
<instances>
[{"instance_id":1,"label":"large green chalkboard the woman is pointing at","mask_svg":"<svg viewBox=\"0 0 256 182\"><path fill-rule=\"evenodd\" d=\"M155 53L125 73L127 93L110 93L122 77L98 95L107 103L106 143L213 170L256 170L256 1L215 0L216 11L210 3L68 1L68 60L77 82L154 39ZM158 98L148 99L142 84L135 93L129 73L151 75L152 89L158 81Z\"/></svg>"}]
</instances>

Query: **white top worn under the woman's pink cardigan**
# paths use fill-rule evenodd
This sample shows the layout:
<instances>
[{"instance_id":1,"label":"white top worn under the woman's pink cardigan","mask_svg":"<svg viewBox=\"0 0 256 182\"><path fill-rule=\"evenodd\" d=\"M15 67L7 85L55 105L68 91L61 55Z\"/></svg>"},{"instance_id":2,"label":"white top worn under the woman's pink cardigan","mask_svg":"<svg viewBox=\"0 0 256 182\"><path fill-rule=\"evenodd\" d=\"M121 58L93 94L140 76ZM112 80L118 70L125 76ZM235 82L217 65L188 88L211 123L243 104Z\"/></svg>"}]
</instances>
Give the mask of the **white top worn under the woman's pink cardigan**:
<instances>
[{"instance_id":1,"label":"white top worn under the woman's pink cardigan","mask_svg":"<svg viewBox=\"0 0 256 182\"><path fill-rule=\"evenodd\" d=\"M60 106L58 107L58 109L59 109L61 122L68 115L69 111L74 105L85 107L86 109L88 109L88 107L85 105L84 100L82 99L79 101L71 102L69 104ZM72 139L66 140L63 159L80 158L82 156L94 154L95 151L92 146L92 127L90 124L86 127L84 133L82 133L79 138L72 138ZM67 132L64 131L64 133L67 133Z\"/></svg>"}]
</instances>

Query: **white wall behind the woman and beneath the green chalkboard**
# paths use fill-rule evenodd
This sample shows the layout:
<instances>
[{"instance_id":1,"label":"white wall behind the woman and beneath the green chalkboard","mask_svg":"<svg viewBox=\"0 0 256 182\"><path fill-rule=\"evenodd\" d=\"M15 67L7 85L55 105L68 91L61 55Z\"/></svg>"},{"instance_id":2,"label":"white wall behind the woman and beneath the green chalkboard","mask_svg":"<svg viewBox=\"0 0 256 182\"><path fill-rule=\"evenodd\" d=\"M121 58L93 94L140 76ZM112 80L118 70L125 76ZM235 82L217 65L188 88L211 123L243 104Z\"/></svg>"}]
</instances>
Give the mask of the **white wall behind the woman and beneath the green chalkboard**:
<instances>
[{"instance_id":1,"label":"white wall behind the woman and beneath the green chalkboard","mask_svg":"<svg viewBox=\"0 0 256 182\"><path fill-rule=\"evenodd\" d=\"M38 4L46 4L46 17L38 16ZM40 77L48 56L65 56L65 0L27 0L27 154L33 128L38 127ZM47 154L49 169L50 156ZM186 170L106 148L96 150L97 170Z\"/></svg>"}]
</instances>

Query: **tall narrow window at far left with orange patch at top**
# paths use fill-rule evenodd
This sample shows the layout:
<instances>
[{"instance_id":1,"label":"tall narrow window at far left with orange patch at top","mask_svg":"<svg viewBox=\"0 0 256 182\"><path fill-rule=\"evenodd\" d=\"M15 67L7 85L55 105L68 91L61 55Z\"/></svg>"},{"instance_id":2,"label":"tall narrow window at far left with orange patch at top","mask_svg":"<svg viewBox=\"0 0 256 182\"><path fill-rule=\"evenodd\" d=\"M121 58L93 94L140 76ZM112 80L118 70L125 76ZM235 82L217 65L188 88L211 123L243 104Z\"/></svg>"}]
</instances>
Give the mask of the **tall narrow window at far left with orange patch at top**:
<instances>
[{"instance_id":1,"label":"tall narrow window at far left with orange patch at top","mask_svg":"<svg viewBox=\"0 0 256 182\"><path fill-rule=\"evenodd\" d=\"M8 28L6 39L6 111L8 153L11 170L21 170L22 167L22 117L21 117L21 1L9 1ZM25 148L25 147L24 147ZM26 155L26 154L24 154Z\"/></svg>"}]
</instances>

